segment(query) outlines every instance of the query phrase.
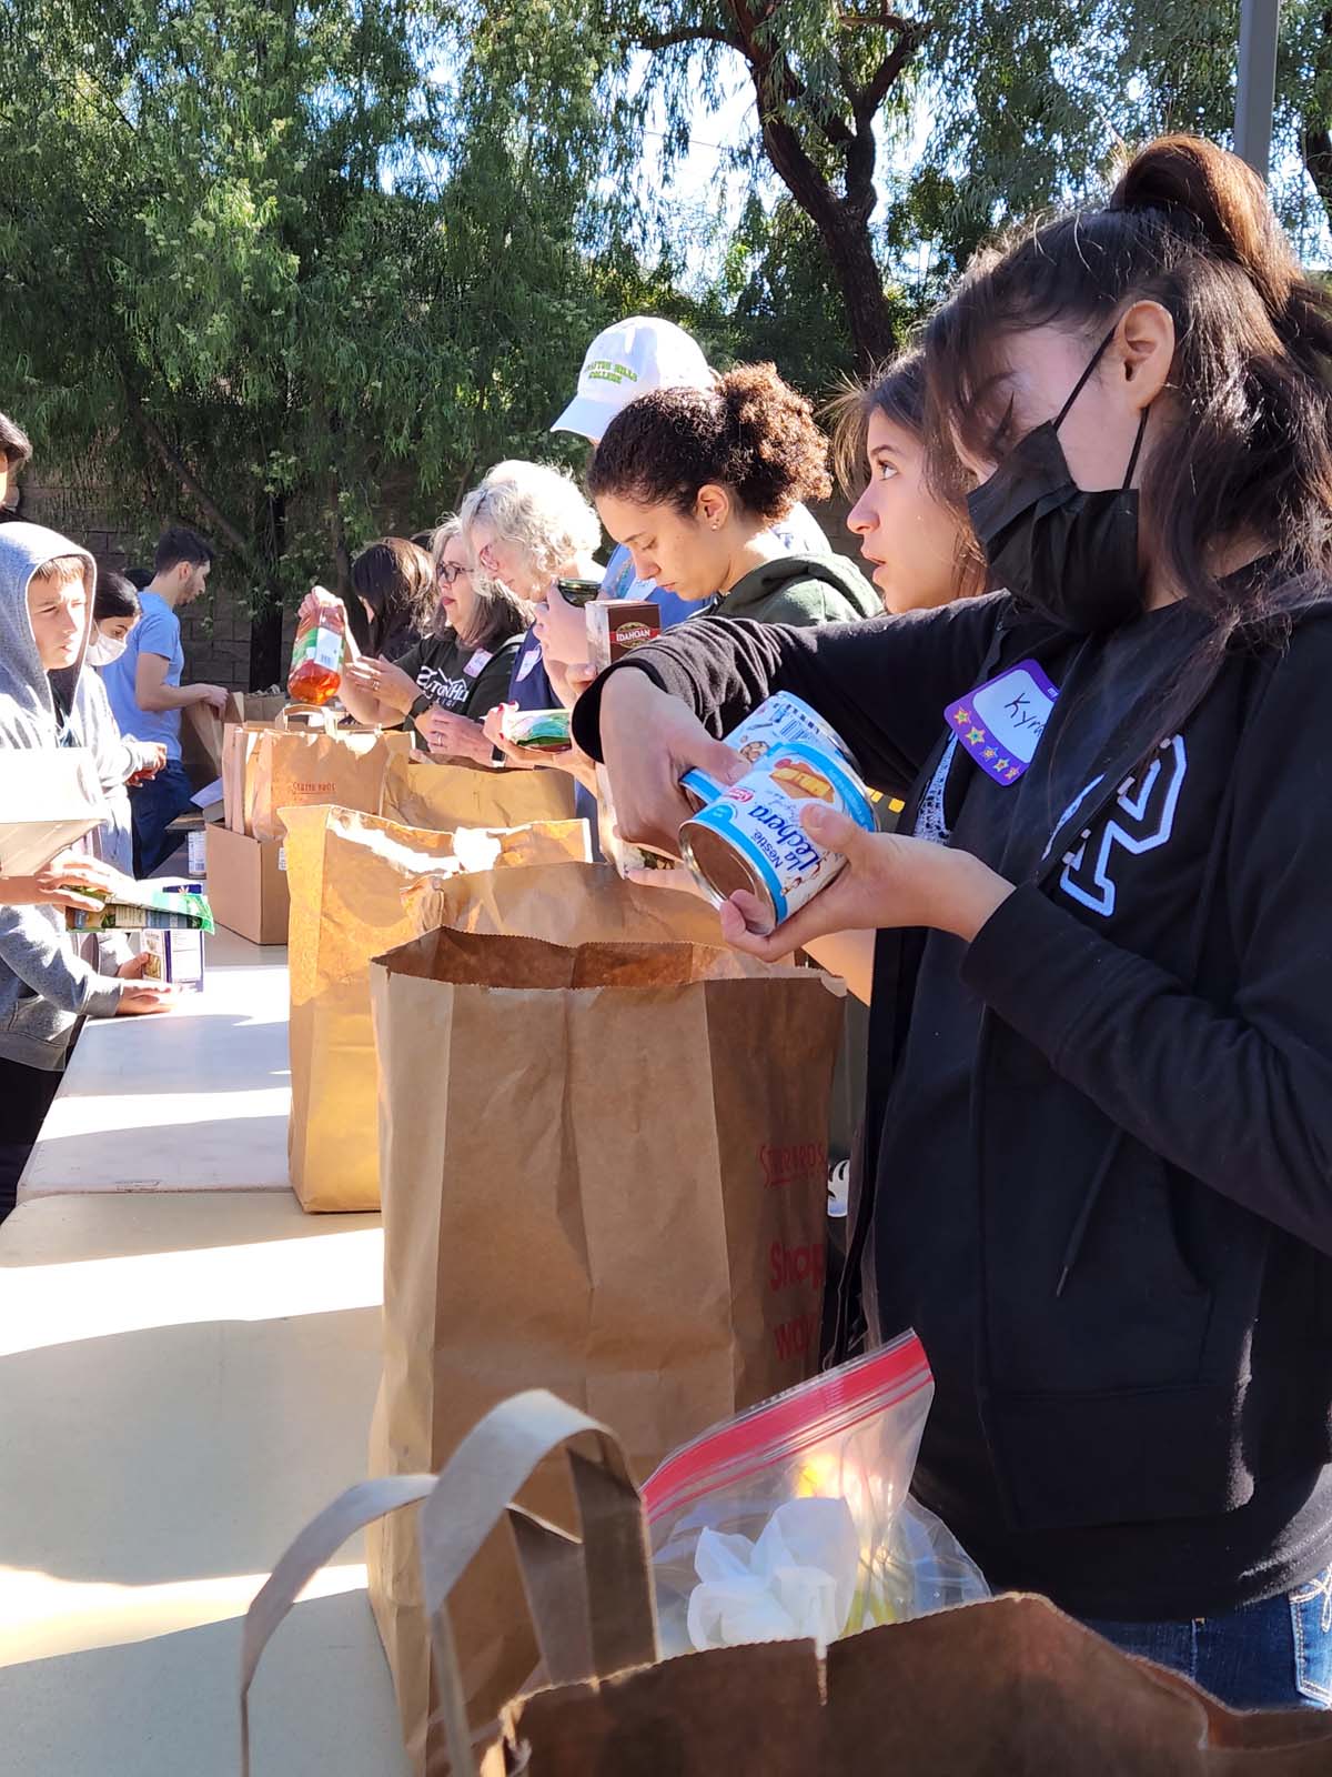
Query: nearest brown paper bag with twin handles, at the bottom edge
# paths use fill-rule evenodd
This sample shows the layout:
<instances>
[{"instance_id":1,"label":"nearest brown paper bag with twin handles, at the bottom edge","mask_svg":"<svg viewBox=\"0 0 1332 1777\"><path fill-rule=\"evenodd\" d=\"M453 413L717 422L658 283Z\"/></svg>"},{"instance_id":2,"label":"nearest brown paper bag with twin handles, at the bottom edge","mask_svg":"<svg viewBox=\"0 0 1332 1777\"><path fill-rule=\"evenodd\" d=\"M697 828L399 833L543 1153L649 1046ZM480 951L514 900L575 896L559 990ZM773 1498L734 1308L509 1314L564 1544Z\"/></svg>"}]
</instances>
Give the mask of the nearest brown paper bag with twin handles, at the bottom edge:
<instances>
[{"instance_id":1,"label":"nearest brown paper bag with twin handles, at the bottom edge","mask_svg":"<svg viewBox=\"0 0 1332 1777\"><path fill-rule=\"evenodd\" d=\"M577 1539L535 1519L527 1484L568 1457ZM549 1473L549 1468L547 1468ZM614 1432L533 1390L471 1427L446 1470L362 1480L288 1548L242 1630L242 1777L250 1686L297 1596L355 1532L419 1505L421 1590L453 1777L1325 1777L1332 1717L1240 1713L1131 1660L1046 1599L1005 1596L813 1642L661 1660L648 1537ZM469 1722L458 1582L508 1523L549 1688Z\"/></svg>"}]
</instances>

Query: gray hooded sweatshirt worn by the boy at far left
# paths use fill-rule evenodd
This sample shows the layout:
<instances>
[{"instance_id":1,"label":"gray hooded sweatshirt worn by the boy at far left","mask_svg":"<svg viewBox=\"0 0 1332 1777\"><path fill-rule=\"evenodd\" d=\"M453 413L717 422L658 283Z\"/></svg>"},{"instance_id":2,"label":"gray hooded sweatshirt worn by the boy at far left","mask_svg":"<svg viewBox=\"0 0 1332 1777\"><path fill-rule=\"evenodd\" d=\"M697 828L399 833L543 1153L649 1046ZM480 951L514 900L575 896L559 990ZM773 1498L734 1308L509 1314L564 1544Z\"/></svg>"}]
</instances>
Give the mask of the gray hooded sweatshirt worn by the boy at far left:
<instances>
[{"instance_id":1,"label":"gray hooded sweatshirt worn by the boy at far left","mask_svg":"<svg viewBox=\"0 0 1332 1777\"><path fill-rule=\"evenodd\" d=\"M25 752L64 743L87 746L105 782L114 764L105 729L98 732L99 725L89 721L83 656L75 666L48 673L28 622L34 569L69 554L85 562L91 629L92 556L39 524L0 524L0 771L21 771ZM57 695L67 711L64 718ZM0 906L0 1056L30 1068L59 1068L78 1018L110 1016L121 1002L121 986L76 952L64 908Z\"/></svg>"}]
</instances>

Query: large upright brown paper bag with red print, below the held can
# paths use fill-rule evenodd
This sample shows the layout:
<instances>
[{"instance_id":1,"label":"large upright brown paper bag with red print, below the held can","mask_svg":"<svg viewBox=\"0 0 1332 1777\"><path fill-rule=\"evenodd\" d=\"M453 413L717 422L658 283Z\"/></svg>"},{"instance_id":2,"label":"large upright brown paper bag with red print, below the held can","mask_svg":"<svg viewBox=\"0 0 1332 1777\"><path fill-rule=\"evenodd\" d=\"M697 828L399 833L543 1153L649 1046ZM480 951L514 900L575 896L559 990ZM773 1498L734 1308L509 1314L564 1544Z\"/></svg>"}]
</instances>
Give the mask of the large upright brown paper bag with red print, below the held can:
<instances>
[{"instance_id":1,"label":"large upright brown paper bag with red print, below the held can","mask_svg":"<svg viewBox=\"0 0 1332 1777\"><path fill-rule=\"evenodd\" d=\"M439 1468L481 1413L543 1386L614 1425L641 1482L810 1372L840 995L813 970L691 944L442 928L375 960L373 1473ZM812 1263L781 1263L797 1251ZM559 1487L538 1480L531 1503L567 1521ZM433 1777L410 1525L375 1532L369 1573L408 1750ZM456 1622L469 1704L494 1715L535 1661L503 1548L474 1564Z\"/></svg>"}]
</instances>

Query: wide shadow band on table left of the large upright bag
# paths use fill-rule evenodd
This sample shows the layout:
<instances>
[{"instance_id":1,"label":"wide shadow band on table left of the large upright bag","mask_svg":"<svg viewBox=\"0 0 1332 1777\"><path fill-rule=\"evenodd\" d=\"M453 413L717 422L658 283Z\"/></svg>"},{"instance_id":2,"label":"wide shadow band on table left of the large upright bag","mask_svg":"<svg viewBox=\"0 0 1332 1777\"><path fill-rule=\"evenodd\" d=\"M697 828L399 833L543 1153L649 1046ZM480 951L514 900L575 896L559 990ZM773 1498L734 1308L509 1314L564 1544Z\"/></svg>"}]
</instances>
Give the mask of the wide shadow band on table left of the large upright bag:
<instances>
[{"instance_id":1,"label":"wide shadow band on table left of the large upright bag","mask_svg":"<svg viewBox=\"0 0 1332 1777\"><path fill-rule=\"evenodd\" d=\"M316 1242L309 1256L327 1249ZM373 1271L380 1247L348 1251L343 1301L364 1301L375 1278L359 1272ZM275 1256L295 1249L282 1242ZM245 1249L218 1255L229 1274L243 1260ZM91 1269L50 1272L71 1272L57 1279L69 1294ZM126 1281L142 1288L142 1271ZM50 1343L52 1329L39 1327L39 1349L0 1358L0 1569L131 1587L266 1573L307 1519L364 1477L380 1375L377 1306L305 1311L320 1303L318 1278L293 1285L288 1301L284 1317L188 1324L153 1324L151 1304L126 1304L123 1322L144 1317L135 1331ZM204 1301L199 1310L210 1311ZM186 1290L158 1315L192 1311ZM272 1269L252 1311L282 1315ZM110 1324L115 1313L112 1303ZM20 1342L21 1329L5 1331ZM362 1558L352 1544L341 1557ZM4 1585L0 1573L0 1638L14 1622Z\"/></svg>"}]
</instances>

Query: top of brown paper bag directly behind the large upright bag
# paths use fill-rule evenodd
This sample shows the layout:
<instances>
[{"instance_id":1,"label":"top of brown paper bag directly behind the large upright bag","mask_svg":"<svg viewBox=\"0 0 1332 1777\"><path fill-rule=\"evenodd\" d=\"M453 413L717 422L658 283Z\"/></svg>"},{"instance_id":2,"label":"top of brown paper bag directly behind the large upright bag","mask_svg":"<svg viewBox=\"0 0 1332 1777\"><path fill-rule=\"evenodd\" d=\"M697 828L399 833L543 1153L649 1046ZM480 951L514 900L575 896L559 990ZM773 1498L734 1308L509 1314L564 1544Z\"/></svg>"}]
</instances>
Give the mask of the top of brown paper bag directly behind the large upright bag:
<instances>
[{"instance_id":1,"label":"top of brown paper bag directly behind the large upright bag","mask_svg":"<svg viewBox=\"0 0 1332 1777\"><path fill-rule=\"evenodd\" d=\"M414 936L453 926L549 944L721 944L710 903L627 883L609 864L543 864L520 880L510 871L465 883L424 876L405 901Z\"/></svg>"}]
</instances>

